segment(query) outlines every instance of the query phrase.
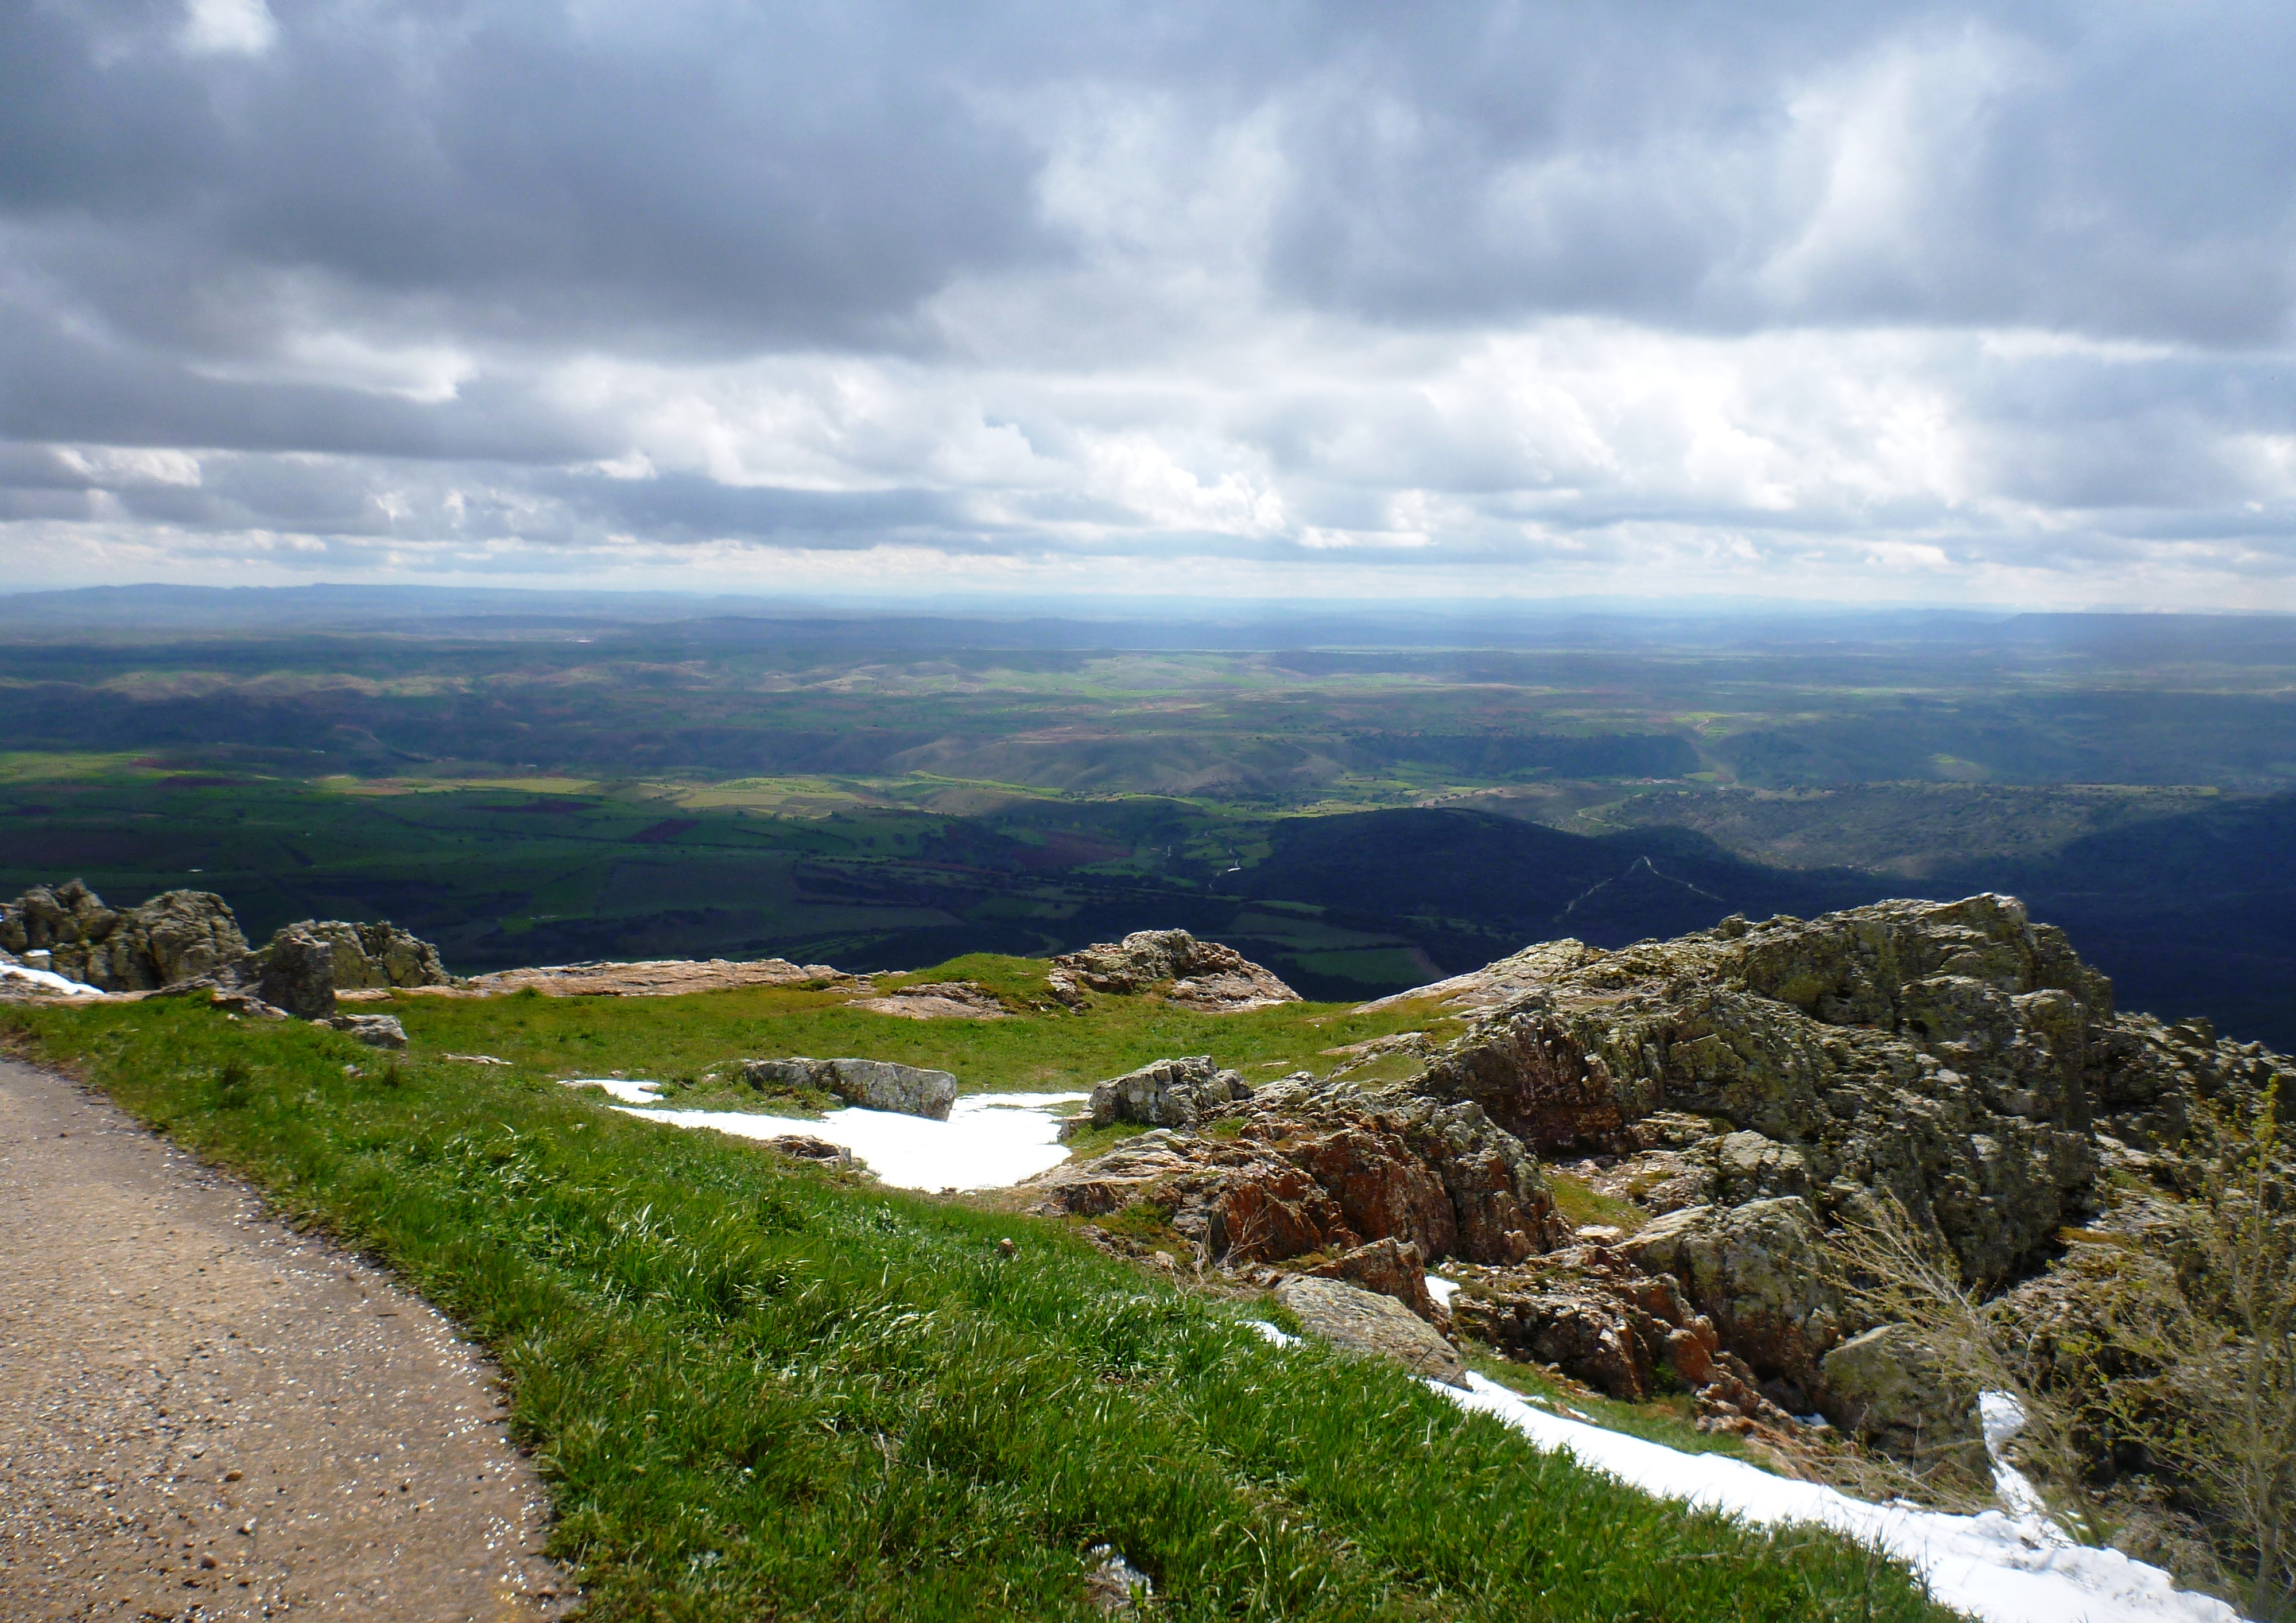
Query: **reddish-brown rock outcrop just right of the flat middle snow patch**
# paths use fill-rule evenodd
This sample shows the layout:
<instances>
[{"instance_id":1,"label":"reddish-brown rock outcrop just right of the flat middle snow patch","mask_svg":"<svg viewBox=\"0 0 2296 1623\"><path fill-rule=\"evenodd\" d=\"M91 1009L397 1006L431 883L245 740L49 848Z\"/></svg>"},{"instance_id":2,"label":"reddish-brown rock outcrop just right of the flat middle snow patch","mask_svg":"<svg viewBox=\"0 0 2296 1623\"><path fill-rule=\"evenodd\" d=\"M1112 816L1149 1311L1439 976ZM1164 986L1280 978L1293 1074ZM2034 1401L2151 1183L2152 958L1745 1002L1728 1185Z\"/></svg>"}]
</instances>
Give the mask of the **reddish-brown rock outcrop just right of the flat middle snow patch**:
<instances>
[{"instance_id":1,"label":"reddish-brown rock outcrop just right of the flat middle snow patch","mask_svg":"<svg viewBox=\"0 0 2296 1623\"><path fill-rule=\"evenodd\" d=\"M1205 1260L1231 1265L1373 1240L1513 1263L1561 1228L1522 1143L1476 1104L1288 1079L1228 1109L1233 1136L1157 1127L1052 1168L1035 1210L1157 1205Z\"/></svg>"}]
</instances>

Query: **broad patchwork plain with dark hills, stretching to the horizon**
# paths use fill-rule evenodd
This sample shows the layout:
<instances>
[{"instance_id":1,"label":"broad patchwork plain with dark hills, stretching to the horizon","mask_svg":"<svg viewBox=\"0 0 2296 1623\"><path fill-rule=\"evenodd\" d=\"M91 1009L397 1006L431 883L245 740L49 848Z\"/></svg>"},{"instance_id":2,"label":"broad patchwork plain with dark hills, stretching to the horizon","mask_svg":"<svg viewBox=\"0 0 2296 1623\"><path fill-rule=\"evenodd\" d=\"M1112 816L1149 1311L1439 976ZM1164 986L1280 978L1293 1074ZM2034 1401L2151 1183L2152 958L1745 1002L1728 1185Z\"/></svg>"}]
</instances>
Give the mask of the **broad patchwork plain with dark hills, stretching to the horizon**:
<instances>
[{"instance_id":1,"label":"broad patchwork plain with dark hills, stretching to the horizon","mask_svg":"<svg viewBox=\"0 0 2296 1623\"><path fill-rule=\"evenodd\" d=\"M1272 638L264 601L0 615L0 888L393 918L459 971L914 969L1180 925L1325 999L1559 934L1998 888L2133 1005L2296 1040L2296 636L2271 618Z\"/></svg>"}]
</instances>

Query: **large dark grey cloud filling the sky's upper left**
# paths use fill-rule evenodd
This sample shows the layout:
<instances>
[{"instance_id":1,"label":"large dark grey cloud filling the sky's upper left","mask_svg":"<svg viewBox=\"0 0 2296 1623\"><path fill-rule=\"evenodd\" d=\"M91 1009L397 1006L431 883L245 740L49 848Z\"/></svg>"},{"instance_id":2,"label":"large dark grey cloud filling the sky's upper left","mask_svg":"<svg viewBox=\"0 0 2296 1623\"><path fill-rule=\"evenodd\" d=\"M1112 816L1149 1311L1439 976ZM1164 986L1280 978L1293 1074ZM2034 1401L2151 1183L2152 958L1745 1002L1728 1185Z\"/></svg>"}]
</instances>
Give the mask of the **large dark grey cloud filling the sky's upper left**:
<instances>
[{"instance_id":1,"label":"large dark grey cloud filling the sky's upper left","mask_svg":"<svg viewBox=\"0 0 2296 1623\"><path fill-rule=\"evenodd\" d=\"M94 211L170 262L317 269L558 342L657 326L852 337L1033 234L1024 142L946 71L951 9L294 7L259 57L177 14L11 7L18 216ZM156 296L147 296L156 294ZM154 335L156 337L156 335Z\"/></svg>"}]
</instances>

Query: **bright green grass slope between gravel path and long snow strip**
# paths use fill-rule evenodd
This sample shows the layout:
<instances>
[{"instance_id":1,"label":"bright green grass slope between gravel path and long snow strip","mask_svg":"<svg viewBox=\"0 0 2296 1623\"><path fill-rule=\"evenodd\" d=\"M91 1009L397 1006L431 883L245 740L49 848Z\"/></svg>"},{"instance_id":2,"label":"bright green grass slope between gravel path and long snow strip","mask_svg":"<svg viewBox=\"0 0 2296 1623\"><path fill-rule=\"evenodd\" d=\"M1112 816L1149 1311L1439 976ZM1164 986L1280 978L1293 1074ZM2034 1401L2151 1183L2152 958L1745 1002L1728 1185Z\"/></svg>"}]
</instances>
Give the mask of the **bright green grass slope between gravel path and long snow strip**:
<instances>
[{"instance_id":1,"label":"bright green grass slope between gravel path and long snow strip","mask_svg":"<svg viewBox=\"0 0 2296 1623\"><path fill-rule=\"evenodd\" d=\"M629 1010L429 1010L466 1051L517 1017L634 1042ZM390 1065L195 999L0 1028L491 1348L590 1618L1084 1618L1100 1543L1171 1618L1947 1616L1867 1550L1637 1497L1054 1224L661 1134L427 1038Z\"/></svg>"}]
</instances>

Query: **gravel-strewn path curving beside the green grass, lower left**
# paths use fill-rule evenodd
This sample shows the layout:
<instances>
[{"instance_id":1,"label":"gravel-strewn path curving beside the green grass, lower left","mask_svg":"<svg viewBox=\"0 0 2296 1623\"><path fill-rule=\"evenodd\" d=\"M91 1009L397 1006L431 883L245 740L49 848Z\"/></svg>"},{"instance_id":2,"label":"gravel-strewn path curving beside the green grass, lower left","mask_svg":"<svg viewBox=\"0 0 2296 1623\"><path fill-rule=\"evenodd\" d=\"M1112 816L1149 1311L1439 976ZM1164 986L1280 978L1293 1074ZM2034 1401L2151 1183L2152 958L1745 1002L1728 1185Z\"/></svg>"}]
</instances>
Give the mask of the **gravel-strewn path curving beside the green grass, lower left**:
<instances>
[{"instance_id":1,"label":"gravel-strewn path curving beside the green grass, lower left","mask_svg":"<svg viewBox=\"0 0 2296 1623\"><path fill-rule=\"evenodd\" d=\"M439 1313L0 1061L0 1621L551 1618L544 1524Z\"/></svg>"}]
</instances>

